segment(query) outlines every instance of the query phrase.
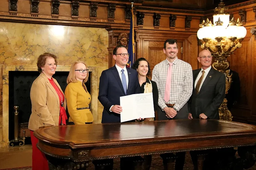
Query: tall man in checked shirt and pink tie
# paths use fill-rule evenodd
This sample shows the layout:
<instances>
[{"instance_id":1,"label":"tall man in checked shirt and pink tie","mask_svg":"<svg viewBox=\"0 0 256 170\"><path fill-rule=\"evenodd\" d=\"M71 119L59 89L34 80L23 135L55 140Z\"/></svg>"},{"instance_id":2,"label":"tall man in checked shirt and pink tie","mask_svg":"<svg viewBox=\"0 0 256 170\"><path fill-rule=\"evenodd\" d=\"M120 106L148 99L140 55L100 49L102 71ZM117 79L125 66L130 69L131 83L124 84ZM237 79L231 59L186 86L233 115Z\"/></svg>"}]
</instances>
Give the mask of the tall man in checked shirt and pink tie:
<instances>
[{"instance_id":1,"label":"tall man in checked shirt and pink tie","mask_svg":"<svg viewBox=\"0 0 256 170\"><path fill-rule=\"evenodd\" d=\"M152 72L152 80L156 82L159 93L158 120L188 119L186 103L193 90L192 67L177 58L178 46L175 40L166 40L163 50L166 60L157 64ZM175 170L183 169L185 154L186 152L176 153ZM163 156L167 158L168 153Z\"/></svg>"}]
</instances>

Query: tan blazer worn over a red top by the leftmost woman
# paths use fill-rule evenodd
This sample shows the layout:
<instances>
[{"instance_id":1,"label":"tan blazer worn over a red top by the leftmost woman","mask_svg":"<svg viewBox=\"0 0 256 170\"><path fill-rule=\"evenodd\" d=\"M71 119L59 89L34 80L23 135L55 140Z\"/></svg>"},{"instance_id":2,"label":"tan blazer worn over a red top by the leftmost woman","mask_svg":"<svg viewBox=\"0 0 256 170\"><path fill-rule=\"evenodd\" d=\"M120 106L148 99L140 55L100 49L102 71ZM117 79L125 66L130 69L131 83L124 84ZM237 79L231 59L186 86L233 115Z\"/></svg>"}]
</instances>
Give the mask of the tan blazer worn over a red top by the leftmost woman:
<instances>
[{"instance_id":1,"label":"tan blazer worn over a red top by the leftmost woman","mask_svg":"<svg viewBox=\"0 0 256 170\"><path fill-rule=\"evenodd\" d=\"M57 80L53 78L53 81L63 93ZM30 90L30 99L32 113L28 121L28 129L36 130L42 126L59 125L60 99L44 73L41 73L33 82ZM64 108L66 109L65 97Z\"/></svg>"}]
</instances>

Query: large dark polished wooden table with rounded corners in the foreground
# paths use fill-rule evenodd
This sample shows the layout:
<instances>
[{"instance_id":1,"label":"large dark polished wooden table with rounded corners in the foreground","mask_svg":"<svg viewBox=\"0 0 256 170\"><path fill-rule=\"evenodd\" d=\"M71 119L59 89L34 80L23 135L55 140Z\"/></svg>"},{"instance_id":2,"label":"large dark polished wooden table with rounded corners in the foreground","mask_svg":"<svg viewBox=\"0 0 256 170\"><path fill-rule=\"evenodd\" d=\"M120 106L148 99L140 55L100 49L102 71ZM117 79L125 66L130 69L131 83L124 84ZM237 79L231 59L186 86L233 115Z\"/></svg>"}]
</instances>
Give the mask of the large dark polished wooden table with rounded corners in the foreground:
<instances>
[{"instance_id":1,"label":"large dark polished wooden table with rounded corners in the foreground","mask_svg":"<svg viewBox=\"0 0 256 170\"><path fill-rule=\"evenodd\" d=\"M54 126L37 129L34 135L52 164L50 169L72 170L85 170L90 161L99 159L231 147L242 148L239 156L245 160L244 153L255 156L256 145L256 126L222 120Z\"/></svg>"}]
</instances>

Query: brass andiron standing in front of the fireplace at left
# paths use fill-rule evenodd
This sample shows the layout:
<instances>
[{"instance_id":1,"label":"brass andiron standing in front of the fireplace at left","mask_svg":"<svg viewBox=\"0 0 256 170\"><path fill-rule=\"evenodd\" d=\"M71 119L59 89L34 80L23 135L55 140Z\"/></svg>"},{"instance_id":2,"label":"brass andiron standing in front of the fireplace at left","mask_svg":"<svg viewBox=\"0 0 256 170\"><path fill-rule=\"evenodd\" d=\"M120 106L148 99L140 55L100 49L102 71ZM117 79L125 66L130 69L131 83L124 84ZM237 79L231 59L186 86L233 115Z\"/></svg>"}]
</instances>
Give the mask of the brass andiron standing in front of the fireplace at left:
<instances>
[{"instance_id":1,"label":"brass andiron standing in front of the fireplace at left","mask_svg":"<svg viewBox=\"0 0 256 170\"><path fill-rule=\"evenodd\" d=\"M8 142L9 147L13 147L15 142L19 142L20 146L24 146L25 144L25 130L23 130L23 137L19 138L19 106L14 106L14 140Z\"/></svg>"}]
</instances>

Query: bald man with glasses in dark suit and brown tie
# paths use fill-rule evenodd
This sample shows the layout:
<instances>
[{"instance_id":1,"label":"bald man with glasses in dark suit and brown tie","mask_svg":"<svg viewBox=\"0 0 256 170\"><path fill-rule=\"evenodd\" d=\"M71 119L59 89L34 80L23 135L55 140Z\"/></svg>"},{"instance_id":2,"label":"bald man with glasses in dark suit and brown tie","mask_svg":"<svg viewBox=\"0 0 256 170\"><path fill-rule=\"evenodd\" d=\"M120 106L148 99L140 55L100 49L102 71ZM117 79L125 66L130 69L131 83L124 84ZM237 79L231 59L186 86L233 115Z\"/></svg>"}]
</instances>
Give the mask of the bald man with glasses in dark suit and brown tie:
<instances>
[{"instance_id":1,"label":"bald man with glasses in dark suit and brown tie","mask_svg":"<svg viewBox=\"0 0 256 170\"><path fill-rule=\"evenodd\" d=\"M193 92L188 102L189 119L219 119L219 110L225 97L226 78L212 68L212 54L203 50L197 57L202 68L193 70ZM201 79L201 81L200 81Z\"/></svg>"}]
</instances>

